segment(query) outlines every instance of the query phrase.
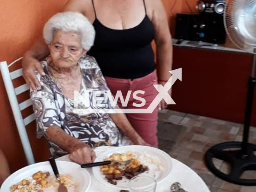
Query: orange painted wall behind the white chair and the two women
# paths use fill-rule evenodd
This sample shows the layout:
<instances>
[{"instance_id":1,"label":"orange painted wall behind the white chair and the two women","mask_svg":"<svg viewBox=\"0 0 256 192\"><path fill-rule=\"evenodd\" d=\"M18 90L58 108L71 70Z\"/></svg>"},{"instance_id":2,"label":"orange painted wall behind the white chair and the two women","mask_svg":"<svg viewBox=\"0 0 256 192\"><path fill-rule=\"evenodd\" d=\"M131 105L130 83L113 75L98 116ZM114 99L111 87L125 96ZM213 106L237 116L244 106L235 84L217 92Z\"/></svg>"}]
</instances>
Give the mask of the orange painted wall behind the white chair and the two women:
<instances>
[{"instance_id":1,"label":"orange painted wall behind the white chair and the two women","mask_svg":"<svg viewBox=\"0 0 256 192\"><path fill-rule=\"evenodd\" d=\"M42 34L44 22L54 13L60 12L67 0L6 0L1 1L0 11L0 61L11 62L19 58L31 46L37 36ZM174 32L174 14L181 12L182 2L177 0L173 10L174 0L162 0L166 8L168 22ZM18 63L11 70L20 67ZM14 84L22 84L24 80L19 78ZM11 171L26 165L26 159L20 143L10 104L6 95L2 77L0 77L0 149L7 156ZM18 97L19 101L28 98L28 92ZM22 112L25 117L32 108ZM48 149L46 142L36 139L35 123L27 126L27 132L35 154L36 161L46 160Z\"/></svg>"}]
</instances>

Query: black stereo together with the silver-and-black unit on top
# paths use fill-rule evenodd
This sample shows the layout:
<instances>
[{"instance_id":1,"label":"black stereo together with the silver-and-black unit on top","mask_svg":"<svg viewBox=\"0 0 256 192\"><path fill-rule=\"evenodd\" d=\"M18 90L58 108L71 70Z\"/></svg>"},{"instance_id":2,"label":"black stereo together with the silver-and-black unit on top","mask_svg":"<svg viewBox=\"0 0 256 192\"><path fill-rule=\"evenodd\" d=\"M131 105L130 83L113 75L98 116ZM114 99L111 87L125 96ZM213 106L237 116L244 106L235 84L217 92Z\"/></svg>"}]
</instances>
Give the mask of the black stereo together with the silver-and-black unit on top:
<instances>
[{"instance_id":1,"label":"black stereo together with the silver-and-black unit on top","mask_svg":"<svg viewBox=\"0 0 256 192\"><path fill-rule=\"evenodd\" d=\"M176 15L175 38L224 44L226 39L224 8L225 1L198 1L196 10L200 14Z\"/></svg>"}]
</instances>

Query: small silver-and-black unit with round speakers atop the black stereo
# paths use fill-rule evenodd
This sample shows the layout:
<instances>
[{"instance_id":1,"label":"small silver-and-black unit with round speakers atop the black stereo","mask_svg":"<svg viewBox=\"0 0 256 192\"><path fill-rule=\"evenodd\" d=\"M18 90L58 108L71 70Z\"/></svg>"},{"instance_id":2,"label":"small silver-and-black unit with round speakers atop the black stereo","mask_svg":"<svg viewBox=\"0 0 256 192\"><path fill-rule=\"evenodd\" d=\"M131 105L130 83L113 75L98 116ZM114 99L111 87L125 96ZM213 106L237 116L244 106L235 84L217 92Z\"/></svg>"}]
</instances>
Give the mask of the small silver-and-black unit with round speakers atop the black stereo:
<instances>
[{"instance_id":1,"label":"small silver-and-black unit with round speakers atop the black stereo","mask_svg":"<svg viewBox=\"0 0 256 192\"><path fill-rule=\"evenodd\" d=\"M223 14L225 5L222 0L200 0L196 3L196 10L202 14Z\"/></svg>"}]
</instances>

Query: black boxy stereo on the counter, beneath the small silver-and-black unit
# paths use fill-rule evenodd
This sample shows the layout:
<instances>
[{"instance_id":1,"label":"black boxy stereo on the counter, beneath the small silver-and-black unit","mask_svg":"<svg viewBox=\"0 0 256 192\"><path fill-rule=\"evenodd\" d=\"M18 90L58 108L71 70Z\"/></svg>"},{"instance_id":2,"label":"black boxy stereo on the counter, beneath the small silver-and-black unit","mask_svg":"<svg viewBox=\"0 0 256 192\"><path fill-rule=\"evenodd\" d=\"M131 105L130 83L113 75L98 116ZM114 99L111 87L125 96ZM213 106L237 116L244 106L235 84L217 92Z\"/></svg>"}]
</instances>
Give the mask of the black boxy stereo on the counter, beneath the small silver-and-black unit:
<instances>
[{"instance_id":1,"label":"black boxy stereo on the counter, beneath the small silver-and-black unit","mask_svg":"<svg viewBox=\"0 0 256 192\"><path fill-rule=\"evenodd\" d=\"M177 14L175 38L224 44L226 31L223 15Z\"/></svg>"}]
</instances>

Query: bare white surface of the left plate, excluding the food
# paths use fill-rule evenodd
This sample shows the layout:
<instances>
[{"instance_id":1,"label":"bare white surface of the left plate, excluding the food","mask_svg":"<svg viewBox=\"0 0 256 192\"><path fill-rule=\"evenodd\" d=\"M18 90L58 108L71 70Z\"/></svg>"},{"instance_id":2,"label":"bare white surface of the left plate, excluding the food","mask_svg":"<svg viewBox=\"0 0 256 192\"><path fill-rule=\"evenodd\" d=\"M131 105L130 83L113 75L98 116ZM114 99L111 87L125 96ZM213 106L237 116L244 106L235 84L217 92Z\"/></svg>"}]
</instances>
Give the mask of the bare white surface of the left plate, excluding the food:
<instances>
[{"instance_id":1,"label":"bare white surface of the left plate, excluding the food","mask_svg":"<svg viewBox=\"0 0 256 192\"><path fill-rule=\"evenodd\" d=\"M69 174L72 176L72 181L74 183L78 183L78 190L76 192L87 192L91 185L91 176L86 169L80 167L80 165L67 162L67 161L58 161L56 160L56 164L60 174ZM43 172L50 172L50 175L54 176L52 168L49 162L40 162L36 164L32 164L26 166L13 174L11 174L2 184L0 188L0 192L10 192L10 187L13 184L17 184L22 179L32 176L34 173L38 172L39 170ZM57 192L57 188L50 188L44 190L47 192ZM69 191L68 192L72 192Z\"/></svg>"}]
</instances>

